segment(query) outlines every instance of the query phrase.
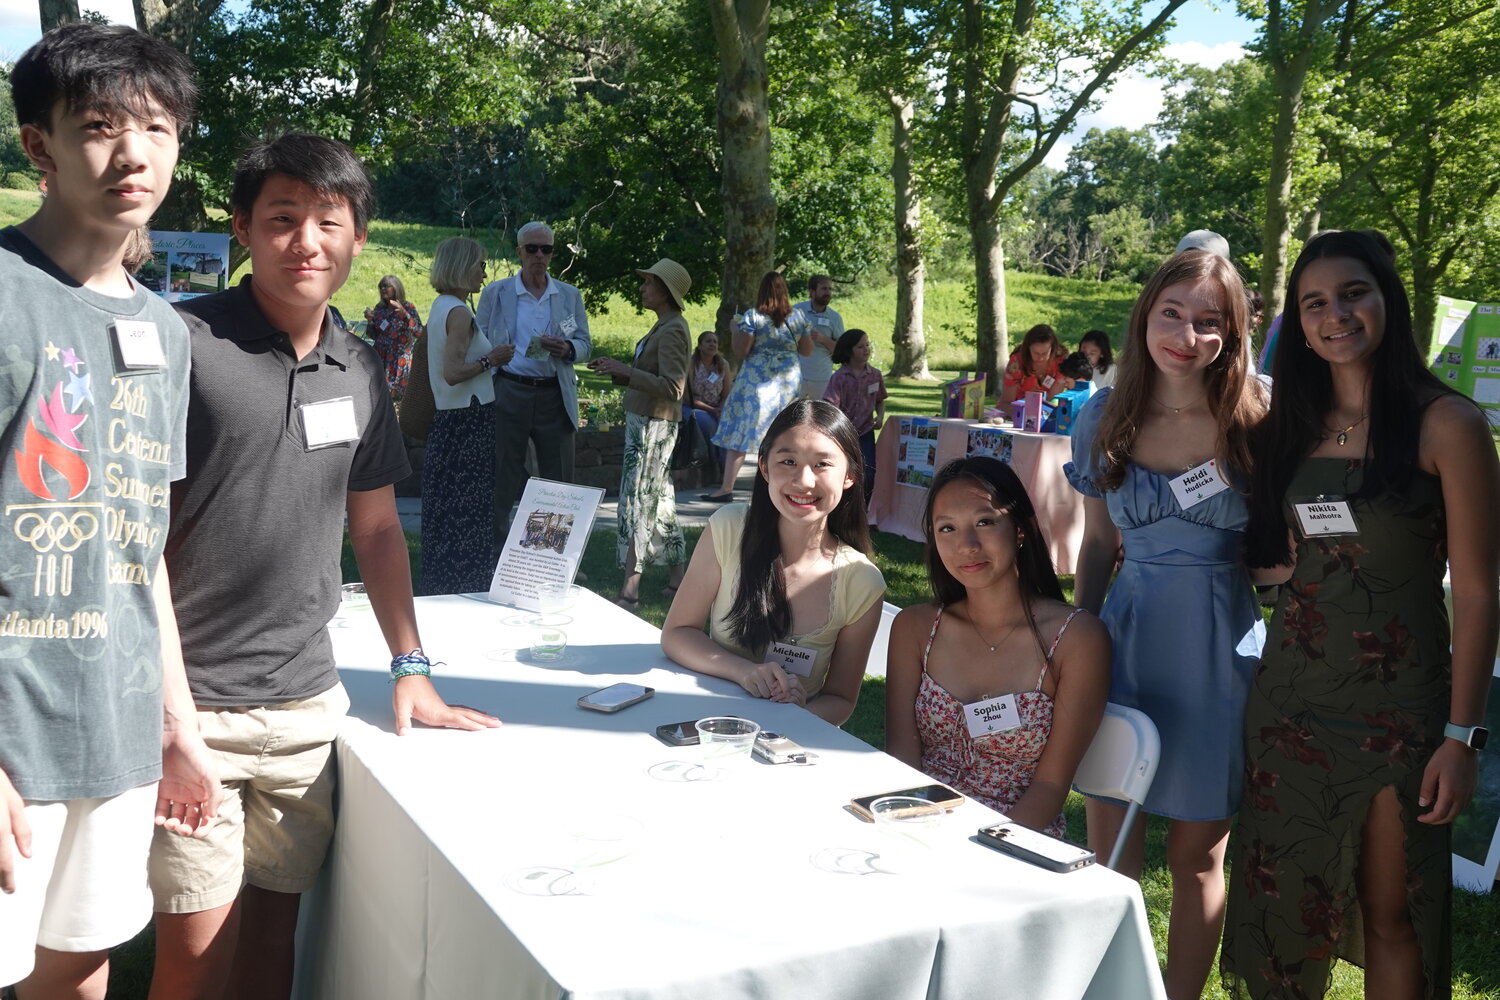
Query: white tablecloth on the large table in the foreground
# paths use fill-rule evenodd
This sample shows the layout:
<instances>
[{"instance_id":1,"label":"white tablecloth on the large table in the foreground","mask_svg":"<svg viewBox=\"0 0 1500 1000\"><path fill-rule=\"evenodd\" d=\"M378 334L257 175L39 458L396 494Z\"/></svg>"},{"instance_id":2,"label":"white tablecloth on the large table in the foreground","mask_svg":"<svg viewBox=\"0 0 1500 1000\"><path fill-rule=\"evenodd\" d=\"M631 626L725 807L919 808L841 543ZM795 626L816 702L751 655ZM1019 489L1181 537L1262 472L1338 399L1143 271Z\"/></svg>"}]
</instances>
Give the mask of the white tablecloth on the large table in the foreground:
<instances>
[{"instance_id":1,"label":"white tablecloth on the large table in the foreground","mask_svg":"<svg viewBox=\"0 0 1500 1000\"><path fill-rule=\"evenodd\" d=\"M354 717L339 741L339 832L304 915L303 996L1162 996L1132 882L1101 867L1052 874L972 843L994 816L972 802L902 874L872 873L890 844L842 807L926 778L804 709L674 667L657 630L608 601L573 609L552 667L513 652L528 643L519 612L462 597L417 610L429 652L450 660L442 694L506 724L398 739L374 618L334 622ZM616 681L657 694L615 715L576 706ZM820 759L663 780L675 768L658 765L694 751L654 727L714 714ZM568 888L586 894L543 895Z\"/></svg>"}]
</instances>

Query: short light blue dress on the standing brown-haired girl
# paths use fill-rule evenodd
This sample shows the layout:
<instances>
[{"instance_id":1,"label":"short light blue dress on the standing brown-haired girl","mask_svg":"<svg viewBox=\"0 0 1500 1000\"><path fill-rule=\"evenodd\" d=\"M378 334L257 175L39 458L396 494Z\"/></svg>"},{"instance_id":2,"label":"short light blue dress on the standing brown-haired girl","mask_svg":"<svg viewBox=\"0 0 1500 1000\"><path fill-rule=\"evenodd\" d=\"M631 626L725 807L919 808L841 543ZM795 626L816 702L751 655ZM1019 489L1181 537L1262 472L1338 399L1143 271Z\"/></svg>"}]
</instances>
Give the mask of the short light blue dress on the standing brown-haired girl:
<instances>
[{"instance_id":1,"label":"short light blue dress on the standing brown-haired girl","mask_svg":"<svg viewBox=\"0 0 1500 1000\"><path fill-rule=\"evenodd\" d=\"M1100 618L1114 640L1110 700L1146 712L1161 765L1144 810L1176 820L1222 820L1239 808L1245 702L1266 642L1240 558L1245 496L1222 490L1184 510L1170 477L1130 465L1104 493L1090 454L1112 390L1094 394L1072 432L1068 481L1102 498L1125 562Z\"/></svg>"}]
</instances>

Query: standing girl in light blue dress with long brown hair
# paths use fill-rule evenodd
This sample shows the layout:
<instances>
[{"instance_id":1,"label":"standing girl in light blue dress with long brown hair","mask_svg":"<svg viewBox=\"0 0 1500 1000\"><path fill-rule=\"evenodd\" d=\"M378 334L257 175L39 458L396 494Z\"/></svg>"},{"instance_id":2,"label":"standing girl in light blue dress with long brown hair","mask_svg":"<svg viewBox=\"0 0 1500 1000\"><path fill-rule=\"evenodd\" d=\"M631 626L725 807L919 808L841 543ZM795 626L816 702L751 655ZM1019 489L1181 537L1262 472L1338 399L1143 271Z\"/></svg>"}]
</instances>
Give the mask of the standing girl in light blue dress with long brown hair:
<instances>
[{"instance_id":1,"label":"standing girl in light blue dress with long brown hair","mask_svg":"<svg viewBox=\"0 0 1500 1000\"><path fill-rule=\"evenodd\" d=\"M1239 733L1264 642L1242 562L1240 490L1266 400L1250 367L1245 289L1221 256L1186 250L1162 264L1136 300L1126 339L1119 381L1089 400L1074 430L1066 471L1084 495L1074 597L1114 640L1110 700L1142 709L1161 733L1144 811L1172 820L1167 996L1197 1000L1224 922ZM1101 856L1124 814L1089 802L1089 846ZM1124 853L1132 877L1144 835L1137 823Z\"/></svg>"}]
</instances>

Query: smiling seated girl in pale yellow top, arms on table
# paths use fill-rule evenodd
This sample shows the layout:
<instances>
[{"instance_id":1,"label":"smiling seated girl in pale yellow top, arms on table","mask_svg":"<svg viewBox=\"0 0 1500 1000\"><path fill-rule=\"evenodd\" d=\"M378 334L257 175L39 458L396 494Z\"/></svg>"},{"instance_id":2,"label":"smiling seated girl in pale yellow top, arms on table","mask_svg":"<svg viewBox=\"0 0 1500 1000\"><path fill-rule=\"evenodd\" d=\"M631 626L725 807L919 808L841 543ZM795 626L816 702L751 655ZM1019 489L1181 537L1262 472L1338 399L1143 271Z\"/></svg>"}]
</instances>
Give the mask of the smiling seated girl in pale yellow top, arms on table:
<instances>
[{"instance_id":1,"label":"smiling seated girl in pale yellow top, arms on table","mask_svg":"<svg viewBox=\"0 0 1500 1000\"><path fill-rule=\"evenodd\" d=\"M760 442L750 504L716 513L699 538L662 651L843 724L885 594L861 475L860 438L837 406L798 399L783 409Z\"/></svg>"}]
</instances>

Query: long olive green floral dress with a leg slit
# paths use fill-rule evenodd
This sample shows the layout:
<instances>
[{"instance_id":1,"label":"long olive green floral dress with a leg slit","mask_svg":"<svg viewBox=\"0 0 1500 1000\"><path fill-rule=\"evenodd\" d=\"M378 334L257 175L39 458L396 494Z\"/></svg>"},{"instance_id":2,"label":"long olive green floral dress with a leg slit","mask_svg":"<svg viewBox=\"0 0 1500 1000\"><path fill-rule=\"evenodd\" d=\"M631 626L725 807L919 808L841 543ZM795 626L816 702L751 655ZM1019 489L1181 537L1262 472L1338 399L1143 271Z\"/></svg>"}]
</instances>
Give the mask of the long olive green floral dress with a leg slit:
<instances>
[{"instance_id":1,"label":"long olive green floral dress with a leg slit","mask_svg":"<svg viewBox=\"0 0 1500 1000\"><path fill-rule=\"evenodd\" d=\"M1386 786L1401 802L1407 900L1426 997L1449 987L1449 826L1416 822L1443 739L1450 661L1438 480L1353 501L1358 534L1304 538L1292 502L1350 496L1359 462L1306 459L1287 495L1296 571L1282 588L1245 714L1245 792L1222 972L1240 996L1306 999L1334 958L1364 966L1360 834Z\"/></svg>"}]
</instances>

